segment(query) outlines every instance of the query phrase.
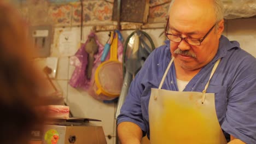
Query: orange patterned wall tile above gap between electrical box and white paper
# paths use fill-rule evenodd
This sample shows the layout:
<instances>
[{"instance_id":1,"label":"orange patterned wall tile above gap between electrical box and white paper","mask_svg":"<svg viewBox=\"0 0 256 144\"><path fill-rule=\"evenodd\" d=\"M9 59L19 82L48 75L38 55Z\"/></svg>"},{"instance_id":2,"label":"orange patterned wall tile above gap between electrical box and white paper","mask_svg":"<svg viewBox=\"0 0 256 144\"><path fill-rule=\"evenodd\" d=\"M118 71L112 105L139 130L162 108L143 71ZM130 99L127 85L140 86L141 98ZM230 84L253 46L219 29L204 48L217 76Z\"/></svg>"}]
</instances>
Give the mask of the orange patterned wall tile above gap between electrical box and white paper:
<instances>
[{"instance_id":1,"label":"orange patterned wall tile above gap between electrical box and white paper","mask_svg":"<svg viewBox=\"0 0 256 144\"><path fill-rule=\"evenodd\" d=\"M51 5L49 17L55 26L71 26L72 5Z\"/></svg>"}]
</instances>

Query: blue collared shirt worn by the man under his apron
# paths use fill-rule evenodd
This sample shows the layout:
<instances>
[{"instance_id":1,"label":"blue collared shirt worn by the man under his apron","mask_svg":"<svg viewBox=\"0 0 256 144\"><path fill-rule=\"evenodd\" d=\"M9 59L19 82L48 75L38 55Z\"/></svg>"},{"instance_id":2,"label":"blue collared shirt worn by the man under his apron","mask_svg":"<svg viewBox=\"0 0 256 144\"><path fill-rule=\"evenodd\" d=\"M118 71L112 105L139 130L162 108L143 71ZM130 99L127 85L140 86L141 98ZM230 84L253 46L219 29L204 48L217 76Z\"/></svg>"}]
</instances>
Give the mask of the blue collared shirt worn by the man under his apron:
<instances>
[{"instance_id":1,"label":"blue collared shirt worn by the man under his apron","mask_svg":"<svg viewBox=\"0 0 256 144\"><path fill-rule=\"evenodd\" d=\"M237 139L256 143L256 59L242 50L237 41L229 41L222 35L216 56L190 80L183 91L202 92L219 58L222 61L207 89L207 93L215 94L219 123L226 133ZM131 82L118 116L118 124L136 123L149 137L148 105L151 88L159 87L170 60L170 42L167 40L166 45L150 53ZM174 64L168 71L162 89L178 91Z\"/></svg>"}]
</instances>

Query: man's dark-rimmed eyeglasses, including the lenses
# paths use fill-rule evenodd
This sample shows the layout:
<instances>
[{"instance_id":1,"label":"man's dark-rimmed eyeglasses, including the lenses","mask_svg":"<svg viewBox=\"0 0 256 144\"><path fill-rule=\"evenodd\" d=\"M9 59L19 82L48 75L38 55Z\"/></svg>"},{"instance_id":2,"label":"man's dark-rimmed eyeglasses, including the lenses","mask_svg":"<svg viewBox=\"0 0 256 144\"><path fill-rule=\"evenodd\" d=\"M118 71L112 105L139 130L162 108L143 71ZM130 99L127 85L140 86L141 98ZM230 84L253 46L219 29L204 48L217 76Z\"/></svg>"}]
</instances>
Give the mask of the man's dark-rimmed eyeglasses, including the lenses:
<instances>
[{"instance_id":1,"label":"man's dark-rimmed eyeglasses, including the lenses","mask_svg":"<svg viewBox=\"0 0 256 144\"><path fill-rule=\"evenodd\" d=\"M171 34L171 33L167 33L167 27L169 25L169 18L167 20L167 24L166 24L166 27L165 27L165 36L171 40L171 41L174 41L176 43L180 43L182 40L185 40L186 43L190 44L190 45L201 45L202 41L205 40L205 38L207 37L207 35L212 31L213 27L216 26L217 23L215 23L212 28L206 33L205 37L201 38L201 39L194 39L194 38L187 38L187 37L181 37L179 35L175 35L175 34Z\"/></svg>"}]
</instances>

